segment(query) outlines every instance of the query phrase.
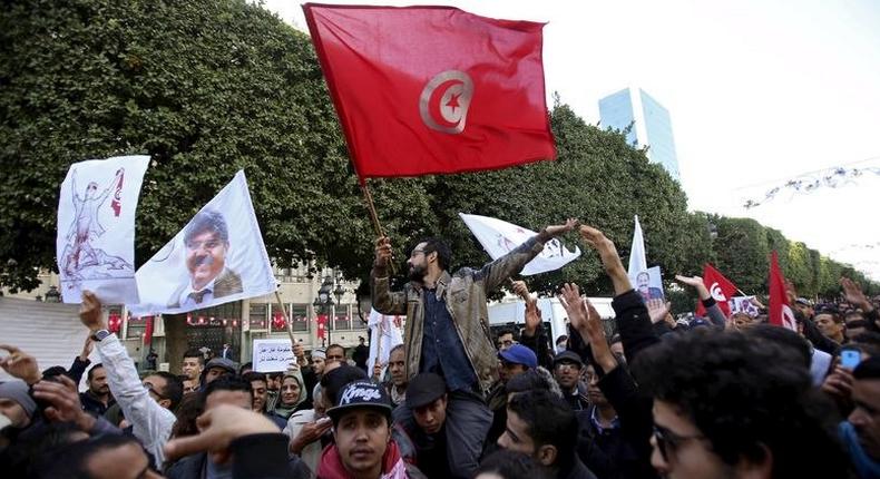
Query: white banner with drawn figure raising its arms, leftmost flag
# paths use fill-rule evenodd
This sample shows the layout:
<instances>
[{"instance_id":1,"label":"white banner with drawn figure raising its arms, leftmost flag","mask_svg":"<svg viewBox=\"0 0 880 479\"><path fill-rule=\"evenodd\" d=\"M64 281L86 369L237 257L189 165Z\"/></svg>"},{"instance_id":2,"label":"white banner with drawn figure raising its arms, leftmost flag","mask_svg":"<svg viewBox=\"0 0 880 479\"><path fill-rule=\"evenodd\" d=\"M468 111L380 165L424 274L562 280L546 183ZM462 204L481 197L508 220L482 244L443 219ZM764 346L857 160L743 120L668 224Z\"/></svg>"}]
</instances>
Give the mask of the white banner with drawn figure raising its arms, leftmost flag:
<instances>
[{"instance_id":1,"label":"white banner with drawn figure raising its arms, leftmost flag","mask_svg":"<svg viewBox=\"0 0 880 479\"><path fill-rule=\"evenodd\" d=\"M137 303L135 213L149 156L70 166L58 202L56 257L65 303L82 290L104 303Z\"/></svg>"}]
</instances>

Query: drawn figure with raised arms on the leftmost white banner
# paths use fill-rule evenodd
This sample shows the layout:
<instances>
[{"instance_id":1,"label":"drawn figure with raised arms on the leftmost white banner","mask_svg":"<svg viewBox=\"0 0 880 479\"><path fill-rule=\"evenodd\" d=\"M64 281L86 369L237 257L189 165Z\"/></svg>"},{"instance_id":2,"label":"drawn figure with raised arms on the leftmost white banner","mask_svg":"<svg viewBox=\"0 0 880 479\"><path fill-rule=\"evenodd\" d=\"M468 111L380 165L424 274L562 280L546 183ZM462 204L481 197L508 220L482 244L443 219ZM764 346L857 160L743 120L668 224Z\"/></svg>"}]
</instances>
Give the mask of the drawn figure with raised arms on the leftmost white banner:
<instances>
[{"instance_id":1,"label":"drawn figure with raised arms on the leftmost white banner","mask_svg":"<svg viewBox=\"0 0 880 479\"><path fill-rule=\"evenodd\" d=\"M74 223L67 234L67 245L65 246L63 271L71 280L89 280L97 277L110 277L110 270L134 271L127 261L121 257L107 254L104 250L95 247L92 242L97 242L106 228L100 224L100 208L110 196L110 190L116 185L116 194L110 205L116 216L119 216L121 204L119 202L123 188L125 168L116 170L116 176L110 180L102 192L98 193L98 184L89 182L86 190L80 196L77 189L77 170L74 169L71 176L71 192L74 199Z\"/></svg>"}]
</instances>

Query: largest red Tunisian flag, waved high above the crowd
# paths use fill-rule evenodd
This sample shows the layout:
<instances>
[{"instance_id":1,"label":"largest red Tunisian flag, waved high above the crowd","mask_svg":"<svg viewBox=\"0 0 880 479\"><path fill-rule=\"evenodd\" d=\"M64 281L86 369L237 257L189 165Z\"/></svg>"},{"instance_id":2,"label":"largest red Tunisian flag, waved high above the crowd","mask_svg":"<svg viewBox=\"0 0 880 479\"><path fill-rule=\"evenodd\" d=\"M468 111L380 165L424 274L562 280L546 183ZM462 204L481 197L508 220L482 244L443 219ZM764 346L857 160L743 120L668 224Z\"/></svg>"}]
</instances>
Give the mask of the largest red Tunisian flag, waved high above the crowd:
<instances>
[{"instance_id":1,"label":"largest red Tunisian flag, waved high above the crowd","mask_svg":"<svg viewBox=\"0 0 880 479\"><path fill-rule=\"evenodd\" d=\"M362 182L556 158L544 23L450 7L303 10Z\"/></svg>"}]
</instances>

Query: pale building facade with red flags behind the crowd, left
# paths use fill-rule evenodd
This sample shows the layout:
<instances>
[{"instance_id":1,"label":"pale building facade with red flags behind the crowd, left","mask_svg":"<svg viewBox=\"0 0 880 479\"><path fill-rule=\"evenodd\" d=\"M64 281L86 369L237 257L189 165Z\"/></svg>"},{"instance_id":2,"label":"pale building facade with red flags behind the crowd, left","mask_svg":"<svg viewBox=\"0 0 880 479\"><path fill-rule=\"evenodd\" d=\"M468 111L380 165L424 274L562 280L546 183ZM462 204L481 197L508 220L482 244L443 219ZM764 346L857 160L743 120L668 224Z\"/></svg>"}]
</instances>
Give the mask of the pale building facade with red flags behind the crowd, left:
<instances>
[{"instance_id":1,"label":"pale building facade with red flags behind the crowd, left","mask_svg":"<svg viewBox=\"0 0 880 479\"><path fill-rule=\"evenodd\" d=\"M306 352L329 344L346 349L358 345L359 336L368 340L366 321L370 300L359 299L360 282L345 281L332 268L310 272L309 265L297 268L275 267L277 294L233 301L186 314L186 336L189 349L209 349L218 354L223 344L232 345L238 363L251 361L253 340L286 339L290 319L292 335ZM41 284L30 292L2 296L36 302L60 302L59 278L53 273L41 273ZM153 349L158 355L156 369L167 369L165 328L162 316L134 317L121 305L106 310L110 329L123 340L139 369L149 368L147 354ZM84 336L85 338L85 336ZM79 351L70 351L70 356Z\"/></svg>"}]
</instances>

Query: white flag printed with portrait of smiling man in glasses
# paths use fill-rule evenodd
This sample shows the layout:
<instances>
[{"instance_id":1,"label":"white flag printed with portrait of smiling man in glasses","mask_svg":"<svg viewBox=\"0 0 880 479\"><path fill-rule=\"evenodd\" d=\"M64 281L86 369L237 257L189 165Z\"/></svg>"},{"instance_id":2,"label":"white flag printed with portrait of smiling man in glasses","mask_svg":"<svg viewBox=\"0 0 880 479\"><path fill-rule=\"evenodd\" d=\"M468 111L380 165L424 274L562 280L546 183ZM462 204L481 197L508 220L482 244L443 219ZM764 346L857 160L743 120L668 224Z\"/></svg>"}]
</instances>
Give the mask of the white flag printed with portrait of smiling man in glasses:
<instances>
[{"instance_id":1,"label":"white flag printed with portrait of smiling man in glasses","mask_svg":"<svg viewBox=\"0 0 880 479\"><path fill-rule=\"evenodd\" d=\"M244 172L137 271L133 314L185 313L275 291Z\"/></svg>"}]
</instances>

